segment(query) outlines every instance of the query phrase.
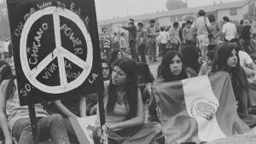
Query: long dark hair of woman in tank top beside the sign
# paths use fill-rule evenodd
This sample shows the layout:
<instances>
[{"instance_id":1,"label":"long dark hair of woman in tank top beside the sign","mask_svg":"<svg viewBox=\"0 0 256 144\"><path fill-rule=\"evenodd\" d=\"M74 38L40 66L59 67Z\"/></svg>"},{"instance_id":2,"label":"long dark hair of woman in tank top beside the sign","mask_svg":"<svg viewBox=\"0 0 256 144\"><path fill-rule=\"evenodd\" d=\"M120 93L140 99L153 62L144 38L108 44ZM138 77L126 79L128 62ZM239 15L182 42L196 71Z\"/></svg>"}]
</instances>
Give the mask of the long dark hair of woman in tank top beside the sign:
<instances>
[{"instance_id":1,"label":"long dark hair of woman in tank top beside the sign","mask_svg":"<svg viewBox=\"0 0 256 144\"><path fill-rule=\"evenodd\" d=\"M137 116L137 63L135 60L129 58L120 58L116 60L113 66L119 66L119 68L127 75L127 82L125 85L125 107L129 110L126 119ZM113 112L113 108L117 101L117 86L113 85L112 78L110 77L110 83L108 87L108 104L107 112Z\"/></svg>"}]
</instances>

